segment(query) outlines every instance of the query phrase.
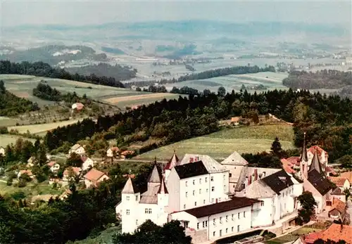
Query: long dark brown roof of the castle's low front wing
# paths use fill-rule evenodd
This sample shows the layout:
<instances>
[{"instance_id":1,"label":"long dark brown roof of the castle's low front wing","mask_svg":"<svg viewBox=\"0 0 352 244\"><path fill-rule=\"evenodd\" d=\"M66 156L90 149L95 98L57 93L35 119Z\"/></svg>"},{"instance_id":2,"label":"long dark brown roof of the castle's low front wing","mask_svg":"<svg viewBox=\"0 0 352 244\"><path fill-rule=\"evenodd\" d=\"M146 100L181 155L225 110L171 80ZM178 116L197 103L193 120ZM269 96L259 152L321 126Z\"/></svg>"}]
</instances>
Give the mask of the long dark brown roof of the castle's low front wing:
<instances>
[{"instance_id":1,"label":"long dark brown roof of the castle's low front wing","mask_svg":"<svg viewBox=\"0 0 352 244\"><path fill-rule=\"evenodd\" d=\"M219 214L220 212L227 212L231 210L236 210L241 207L248 207L253 205L253 203L259 203L260 200L251 198L237 198L234 197L232 200L228 200L221 203L215 203L212 205L206 205L203 207L196 207L190 210L184 210L196 218L206 217L213 214Z\"/></svg>"}]
</instances>

